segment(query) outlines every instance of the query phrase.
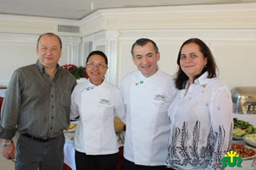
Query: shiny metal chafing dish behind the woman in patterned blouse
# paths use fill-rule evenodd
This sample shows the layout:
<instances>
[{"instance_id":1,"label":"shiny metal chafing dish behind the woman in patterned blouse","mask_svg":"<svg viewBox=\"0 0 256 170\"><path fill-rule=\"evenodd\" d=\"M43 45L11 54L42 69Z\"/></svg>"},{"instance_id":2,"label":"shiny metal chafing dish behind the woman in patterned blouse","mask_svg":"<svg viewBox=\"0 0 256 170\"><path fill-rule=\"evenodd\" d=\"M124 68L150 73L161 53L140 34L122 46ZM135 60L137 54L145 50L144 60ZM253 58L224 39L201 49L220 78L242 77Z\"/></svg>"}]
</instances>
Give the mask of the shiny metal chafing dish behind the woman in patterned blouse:
<instances>
[{"instance_id":1,"label":"shiny metal chafing dish behind the woman in patterned blouse","mask_svg":"<svg viewBox=\"0 0 256 170\"><path fill-rule=\"evenodd\" d=\"M231 95L234 113L256 114L256 87L234 87Z\"/></svg>"}]
</instances>

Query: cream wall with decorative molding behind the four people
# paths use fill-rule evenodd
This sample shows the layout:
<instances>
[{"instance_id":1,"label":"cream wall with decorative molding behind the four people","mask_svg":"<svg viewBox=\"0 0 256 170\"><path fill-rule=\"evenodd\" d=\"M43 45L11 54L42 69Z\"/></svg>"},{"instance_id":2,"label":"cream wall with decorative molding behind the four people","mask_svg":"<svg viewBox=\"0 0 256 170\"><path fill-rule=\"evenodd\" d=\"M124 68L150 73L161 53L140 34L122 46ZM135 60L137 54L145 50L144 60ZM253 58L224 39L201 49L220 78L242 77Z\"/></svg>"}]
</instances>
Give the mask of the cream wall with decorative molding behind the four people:
<instances>
[{"instance_id":1,"label":"cream wall with decorative molding behind the four people","mask_svg":"<svg viewBox=\"0 0 256 170\"><path fill-rule=\"evenodd\" d=\"M107 9L80 21L8 15L0 18L0 86L8 82L16 67L34 63L34 45L43 32L54 32L63 39L60 64L84 65L89 42L92 50L103 49L109 57L106 79L116 85L136 69L130 54L136 39L156 41L160 69L173 75L181 44L196 37L211 48L220 78L230 89L256 86L256 3ZM59 24L80 26L81 30L76 34L58 32Z\"/></svg>"}]
</instances>

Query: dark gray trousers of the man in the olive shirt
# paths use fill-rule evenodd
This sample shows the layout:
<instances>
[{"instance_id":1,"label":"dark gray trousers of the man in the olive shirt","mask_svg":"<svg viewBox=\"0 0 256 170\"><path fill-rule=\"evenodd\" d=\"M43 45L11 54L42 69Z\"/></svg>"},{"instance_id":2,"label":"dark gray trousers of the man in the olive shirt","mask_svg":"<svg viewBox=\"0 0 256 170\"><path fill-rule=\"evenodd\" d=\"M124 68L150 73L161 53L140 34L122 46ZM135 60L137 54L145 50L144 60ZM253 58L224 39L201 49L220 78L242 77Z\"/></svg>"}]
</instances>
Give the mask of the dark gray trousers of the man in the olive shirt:
<instances>
[{"instance_id":1,"label":"dark gray trousers of the man in the olive shirt","mask_svg":"<svg viewBox=\"0 0 256 170\"><path fill-rule=\"evenodd\" d=\"M63 134L48 142L38 142L19 134L15 170L62 170L64 144Z\"/></svg>"}]
</instances>

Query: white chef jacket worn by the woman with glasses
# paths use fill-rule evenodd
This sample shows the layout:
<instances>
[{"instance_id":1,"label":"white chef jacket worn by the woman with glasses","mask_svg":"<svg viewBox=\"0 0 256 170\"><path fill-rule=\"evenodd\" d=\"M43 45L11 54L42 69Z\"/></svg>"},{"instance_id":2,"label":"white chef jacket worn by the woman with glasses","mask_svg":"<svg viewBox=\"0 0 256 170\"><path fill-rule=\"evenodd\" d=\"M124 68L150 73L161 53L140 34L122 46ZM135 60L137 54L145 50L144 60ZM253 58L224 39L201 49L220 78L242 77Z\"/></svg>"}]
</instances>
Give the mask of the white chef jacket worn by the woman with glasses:
<instances>
[{"instance_id":1,"label":"white chef jacket worn by the woman with glasses","mask_svg":"<svg viewBox=\"0 0 256 170\"><path fill-rule=\"evenodd\" d=\"M125 122L125 106L119 88L105 80L93 85L89 79L75 86L71 95L71 118L80 116L74 148L87 155L118 152L114 116Z\"/></svg>"}]
</instances>

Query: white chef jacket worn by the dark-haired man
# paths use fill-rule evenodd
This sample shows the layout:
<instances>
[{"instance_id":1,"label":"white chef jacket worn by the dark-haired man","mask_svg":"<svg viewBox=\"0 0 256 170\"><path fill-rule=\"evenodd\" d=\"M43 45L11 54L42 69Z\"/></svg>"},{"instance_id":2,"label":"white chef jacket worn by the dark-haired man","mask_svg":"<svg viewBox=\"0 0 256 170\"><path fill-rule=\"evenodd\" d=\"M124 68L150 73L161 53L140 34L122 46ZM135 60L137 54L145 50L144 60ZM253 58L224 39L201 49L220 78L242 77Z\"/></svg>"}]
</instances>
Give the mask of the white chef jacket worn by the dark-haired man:
<instances>
[{"instance_id":1,"label":"white chef jacket worn by the dark-haired man","mask_svg":"<svg viewBox=\"0 0 256 170\"><path fill-rule=\"evenodd\" d=\"M167 111L177 92L173 78L159 69L145 78L137 70L125 76L120 89L127 107L124 157L137 165L164 165L170 134Z\"/></svg>"}]
</instances>

